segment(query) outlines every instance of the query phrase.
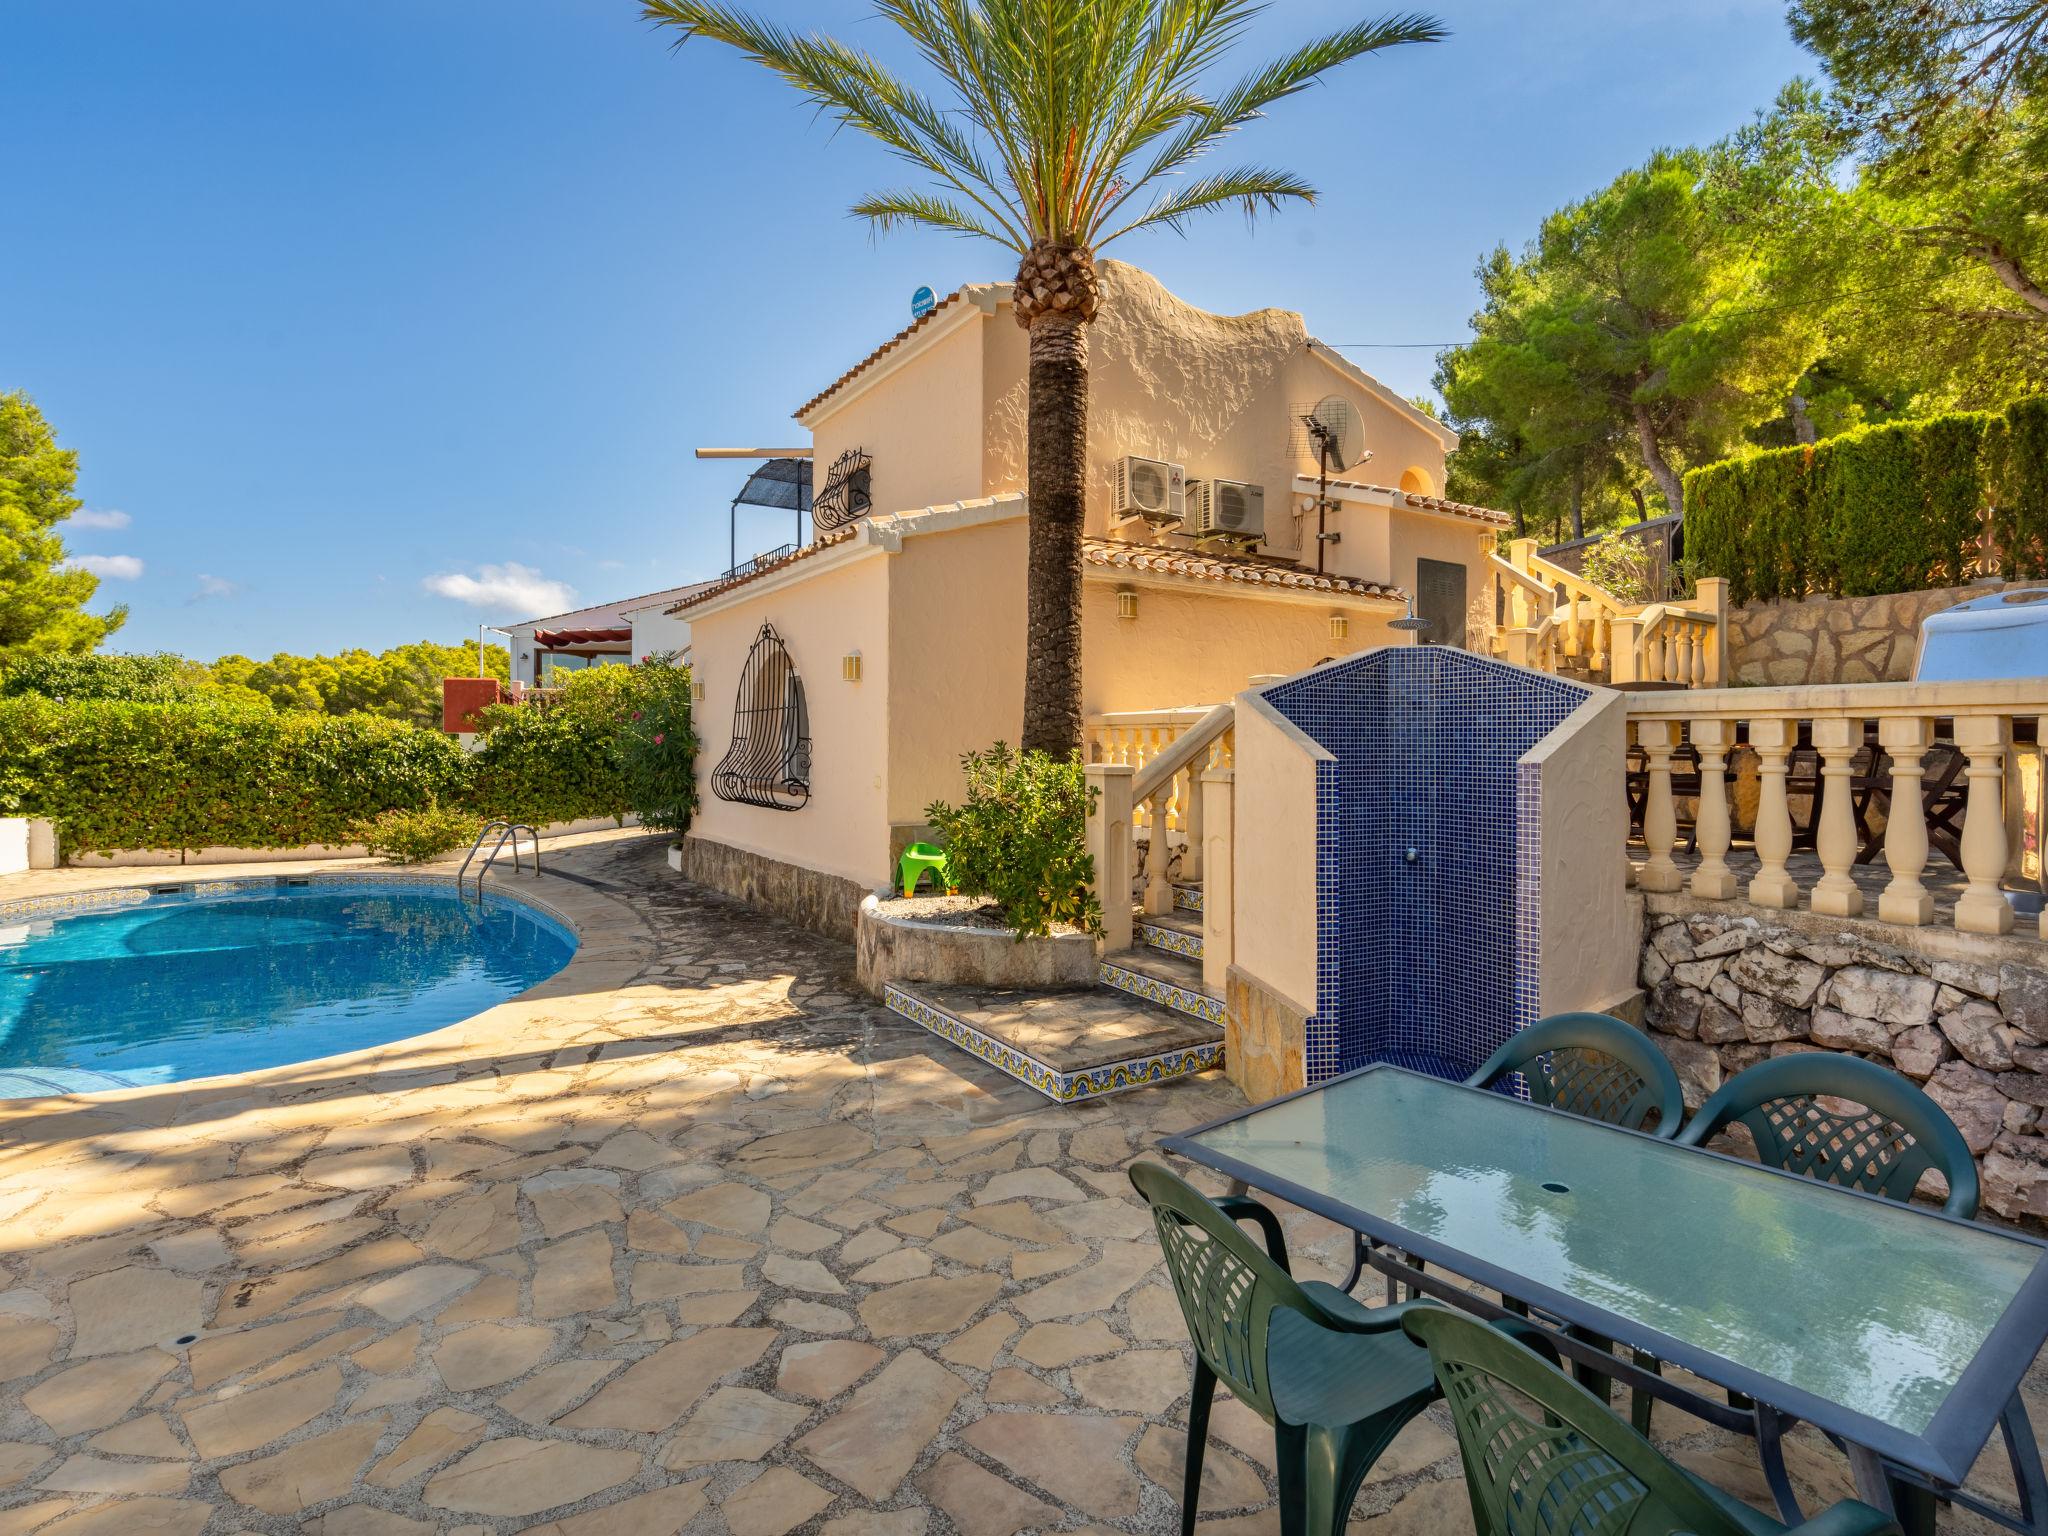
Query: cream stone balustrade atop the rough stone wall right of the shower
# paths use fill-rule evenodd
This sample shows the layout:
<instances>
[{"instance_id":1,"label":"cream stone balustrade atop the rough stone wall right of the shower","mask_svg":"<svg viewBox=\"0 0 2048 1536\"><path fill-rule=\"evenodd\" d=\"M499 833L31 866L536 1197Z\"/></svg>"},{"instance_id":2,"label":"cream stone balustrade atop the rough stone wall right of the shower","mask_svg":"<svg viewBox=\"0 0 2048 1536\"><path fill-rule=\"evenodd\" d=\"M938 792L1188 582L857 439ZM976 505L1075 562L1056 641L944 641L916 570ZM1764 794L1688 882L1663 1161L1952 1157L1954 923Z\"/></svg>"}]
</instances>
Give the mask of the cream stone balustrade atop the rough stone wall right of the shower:
<instances>
[{"instance_id":1,"label":"cream stone balustrade atop the rough stone wall right of the shower","mask_svg":"<svg viewBox=\"0 0 2048 1536\"><path fill-rule=\"evenodd\" d=\"M1954 838L1964 889L1954 926L1968 934L2009 934L2013 903L2003 881L2011 864L2011 803L2038 776L2009 772L2015 721L2048 715L2048 680L1876 682L1833 688L1714 688L1686 694L1630 694L1630 735L1640 748L1642 842L1632 870L1642 891L1679 891L1708 901L1747 897L1759 907L1806 905L1835 918L1923 926L1935 918L1927 891L1929 813ZM1673 762L1690 743L1698 774L1690 877L1675 858ZM1729 766L1737 748L1755 754L1753 846L1747 885L1729 866ZM1792 782L1794 758L1800 760ZM1817 770L1806 768L1817 760ZM1692 788L1688 784L1688 788ZM1810 889L1788 868L1794 848L1792 801L1808 801L1808 836L1821 864ZM1882 831L1870 823L1882 807ZM2040 807L2034 807L2038 815ZM1888 881L1866 911L1853 879L1866 838L1882 838ZM2040 920L2048 938L2048 915Z\"/></svg>"}]
</instances>

